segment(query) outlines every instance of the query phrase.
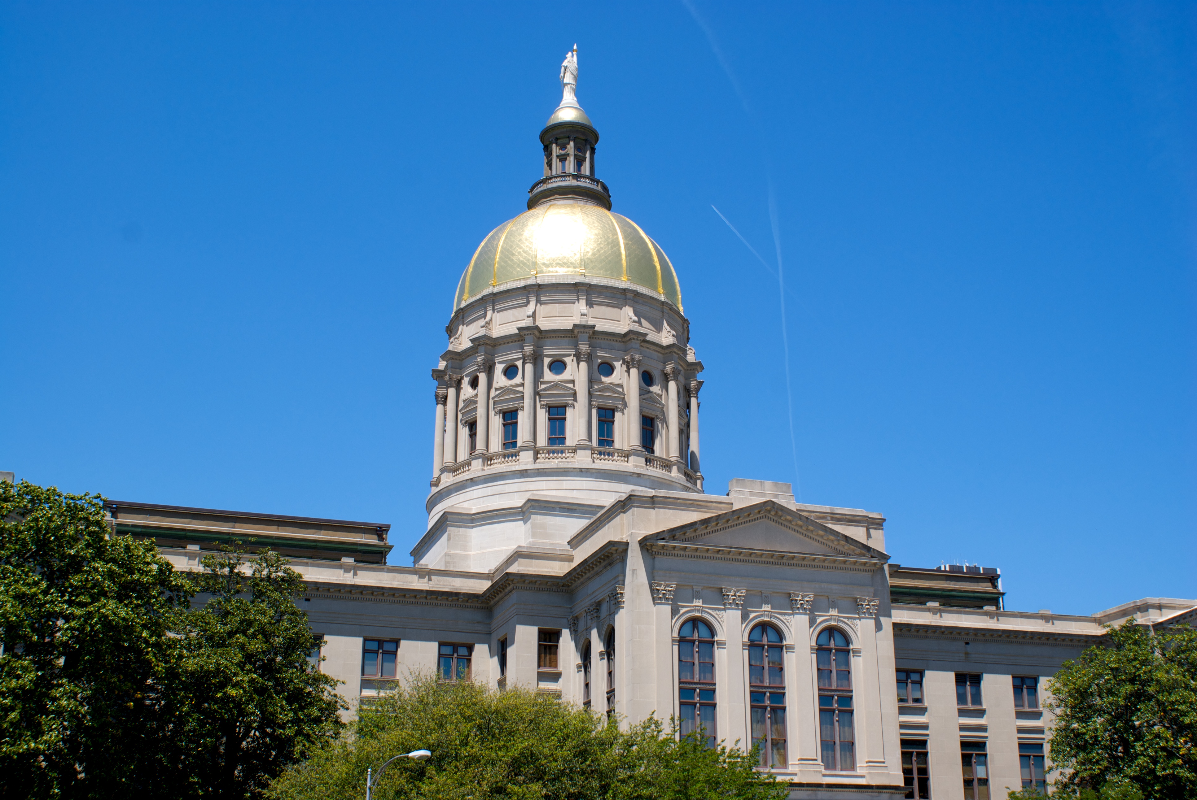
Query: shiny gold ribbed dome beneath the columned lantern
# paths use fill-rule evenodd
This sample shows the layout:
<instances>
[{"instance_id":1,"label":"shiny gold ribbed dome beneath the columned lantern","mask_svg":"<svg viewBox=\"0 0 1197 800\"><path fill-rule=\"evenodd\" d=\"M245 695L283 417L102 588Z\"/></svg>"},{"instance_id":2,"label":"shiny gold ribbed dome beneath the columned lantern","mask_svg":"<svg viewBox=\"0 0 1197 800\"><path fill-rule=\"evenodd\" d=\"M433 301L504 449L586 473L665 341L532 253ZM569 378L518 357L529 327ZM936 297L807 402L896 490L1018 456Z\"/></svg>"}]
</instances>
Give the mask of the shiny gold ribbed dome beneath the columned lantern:
<instances>
[{"instance_id":1,"label":"shiny gold ribbed dome beneath the columned lantern","mask_svg":"<svg viewBox=\"0 0 1197 800\"><path fill-rule=\"evenodd\" d=\"M630 281L682 310L666 251L626 216L584 203L547 203L491 231L461 276L454 309L491 286L533 275Z\"/></svg>"}]
</instances>

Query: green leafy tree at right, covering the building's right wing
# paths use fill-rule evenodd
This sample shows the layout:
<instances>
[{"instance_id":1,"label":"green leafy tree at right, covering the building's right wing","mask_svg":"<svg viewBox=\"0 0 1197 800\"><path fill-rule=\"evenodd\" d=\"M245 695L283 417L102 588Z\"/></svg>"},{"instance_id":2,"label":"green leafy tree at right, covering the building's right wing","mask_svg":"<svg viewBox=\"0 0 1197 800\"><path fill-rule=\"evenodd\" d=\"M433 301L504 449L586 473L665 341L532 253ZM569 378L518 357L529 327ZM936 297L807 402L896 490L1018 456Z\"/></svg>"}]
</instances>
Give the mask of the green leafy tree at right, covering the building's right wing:
<instances>
[{"instance_id":1,"label":"green leafy tree at right, covering the building's right wing","mask_svg":"<svg viewBox=\"0 0 1197 800\"><path fill-rule=\"evenodd\" d=\"M1197 631L1128 621L1065 661L1050 690L1057 790L1197 798Z\"/></svg>"}]
</instances>

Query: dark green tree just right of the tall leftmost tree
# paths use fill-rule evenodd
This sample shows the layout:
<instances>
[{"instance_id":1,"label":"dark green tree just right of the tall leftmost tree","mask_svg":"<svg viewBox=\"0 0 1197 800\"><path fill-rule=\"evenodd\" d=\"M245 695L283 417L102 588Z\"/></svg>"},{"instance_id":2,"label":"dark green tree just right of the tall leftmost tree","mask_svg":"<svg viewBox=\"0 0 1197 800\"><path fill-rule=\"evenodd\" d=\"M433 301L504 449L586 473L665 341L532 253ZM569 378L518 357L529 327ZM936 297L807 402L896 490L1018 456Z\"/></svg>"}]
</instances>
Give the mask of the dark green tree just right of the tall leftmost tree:
<instances>
[{"instance_id":1,"label":"dark green tree just right of the tall leftmost tree","mask_svg":"<svg viewBox=\"0 0 1197 800\"><path fill-rule=\"evenodd\" d=\"M277 552L206 556L202 603L178 627L175 757L182 795L261 795L286 767L332 740L346 708L336 682L311 668L318 645L296 600L304 584ZM248 569L247 569L248 568Z\"/></svg>"}]
</instances>

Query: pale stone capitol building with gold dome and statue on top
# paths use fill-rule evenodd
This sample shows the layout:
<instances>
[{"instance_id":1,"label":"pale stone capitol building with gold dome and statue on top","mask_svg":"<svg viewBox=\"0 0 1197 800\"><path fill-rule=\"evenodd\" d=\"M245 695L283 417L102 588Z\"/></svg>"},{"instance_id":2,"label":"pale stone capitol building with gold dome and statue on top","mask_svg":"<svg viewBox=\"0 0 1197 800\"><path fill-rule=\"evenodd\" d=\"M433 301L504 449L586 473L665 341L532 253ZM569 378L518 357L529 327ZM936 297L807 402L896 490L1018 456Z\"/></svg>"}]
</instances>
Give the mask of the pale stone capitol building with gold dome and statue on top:
<instances>
[{"instance_id":1,"label":"pale stone capitol building with gold dome and statue on top","mask_svg":"<svg viewBox=\"0 0 1197 800\"><path fill-rule=\"evenodd\" d=\"M385 524L111 501L117 531L180 569L233 539L291 558L351 707L436 670L759 741L791 798L1043 786L1046 679L1102 625L1197 600L1014 611L997 569L895 563L879 512L706 484L686 265L612 209L576 51L561 84L527 210L461 242L445 285L412 566L387 564Z\"/></svg>"}]
</instances>

